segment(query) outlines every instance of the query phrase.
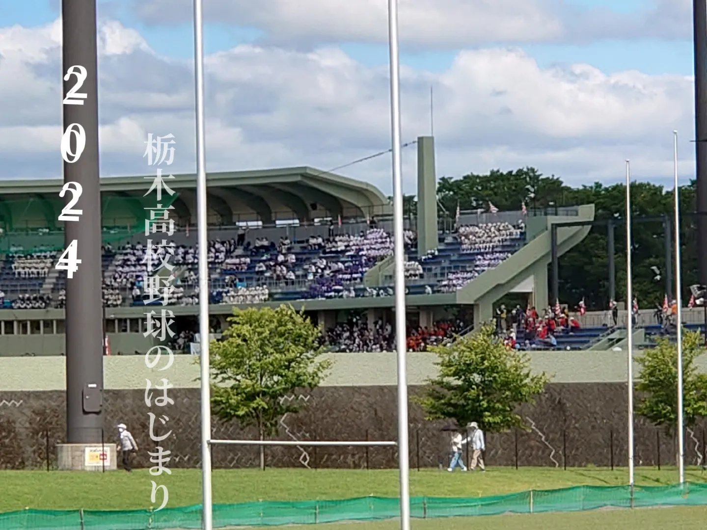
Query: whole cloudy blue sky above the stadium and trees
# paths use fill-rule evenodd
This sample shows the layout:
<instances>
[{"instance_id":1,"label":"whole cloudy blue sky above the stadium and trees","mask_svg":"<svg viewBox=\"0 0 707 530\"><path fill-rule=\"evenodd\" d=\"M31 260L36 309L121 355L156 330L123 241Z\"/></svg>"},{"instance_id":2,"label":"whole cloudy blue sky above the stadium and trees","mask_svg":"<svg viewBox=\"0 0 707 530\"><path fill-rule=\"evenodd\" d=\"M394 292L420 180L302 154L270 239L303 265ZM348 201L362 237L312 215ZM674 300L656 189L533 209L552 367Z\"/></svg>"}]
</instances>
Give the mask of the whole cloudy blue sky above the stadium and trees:
<instances>
[{"instance_id":1,"label":"whole cloudy blue sky above the stadium and trees","mask_svg":"<svg viewBox=\"0 0 707 530\"><path fill-rule=\"evenodd\" d=\"M170 124L189 143L191 1L98 0L101 21L119 22L119 28L112 28L115 42L132 42L135 30L161 56L134 49L105 60L100 117L106 138L112 139L102 148L106 175L140 170L139 157L127 163L126 153L132 154L132 142L143 129ZM286 0L204 1L207 20L235 21L206 23L207 54L249 42L257 45L211 58L218 66L209 78L207 114L211 112L209 131L216 139L211 145L218 147L209 151L209 167L329 168L390 145L385 0L297 0L311 11L292 11L293 4ZM0 4L0 29L40 28L59 18L61 0ZM357 10L356 19L346 11L351 6ZM379 8L373 23L366 6ZM694 98L691 81L685 78L694 69L690 6L689 0L409 0L401 6L401 13L410 17L407 26L404 20L401 24L401 59L409 66L401 88L404 139L428 134L428 88L433 85L438 175L534 165L571 184L616 182L624 159L631 158L638 179L670 184L672 130L678 129L684 144L681 176L687 179L694 172L694 148L687 143L693 136ZM495 11L489 16L484 8ZM243 20L253 26L236 25L246 24ZM35 37L44 38L40 30L27 33L23 38L30 44ZM451 38L445 40L447 36ZM517 42L487 41L514 37ZM13 51L14 59L0 65L5 69L0 92L26 103L0 117L0 136L26 135L30 144L49 134L31 130L34 126L59 131L59 111L47 105L54 98L50 91L60 86L55 71L59 49L52 49L38 65L37 57L30 59L32 46L25 53L23 42L6 40L3 45ZM308 53L325 45L344 53ZM429 51L413 53L407 45ZM460 55L462 46L470 52ZM578 63L600 72L547 70ZM136 75L141 71L157 73ZM36 79L31 94L16 81L29 78ZM170 109L180 112L153 112L136 105L139 101L171 102ZM53 140L46 141L42 159L32 158L32 167L26 158L3 153L6 175L56 175L60 160ZM184 160L185 171L192 170L192 155L185 153ZM404 164L413 182L414 155L405 157ZM345 173L389 191L390 164L385 158L349 167Z\"/></svg>"}]
</instances>

